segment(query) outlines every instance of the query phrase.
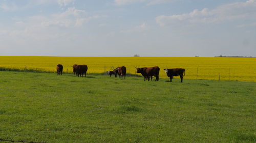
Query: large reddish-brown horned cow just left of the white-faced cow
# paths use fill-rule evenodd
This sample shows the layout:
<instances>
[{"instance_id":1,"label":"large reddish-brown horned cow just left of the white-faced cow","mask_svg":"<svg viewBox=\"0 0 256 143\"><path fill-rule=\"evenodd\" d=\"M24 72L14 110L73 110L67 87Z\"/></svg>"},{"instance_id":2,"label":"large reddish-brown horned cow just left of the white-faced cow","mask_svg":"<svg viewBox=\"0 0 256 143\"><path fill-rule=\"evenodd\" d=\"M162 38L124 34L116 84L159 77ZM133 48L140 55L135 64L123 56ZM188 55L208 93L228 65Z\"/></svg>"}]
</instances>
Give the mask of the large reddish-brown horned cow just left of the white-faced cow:
<instances>
[{"instance_id":1,"label":"large reddish-brown horned cow just left of the white-faced cow","mask_svg":"<svg viewBox=\"0 0 256 143\"><path fill-rule=\"evenodd\" d=\"M156 67L151 67L151 68L136 68L137 70L137 73L141 73L142 76L144 76L144 81L147 79L148 81L150 81L150 77L151 77L151 80L152 80L152 77L155 76L156 77L156 80L155 81L158 81L159 80L159 71L160 71L160 68L158 66Z\"/></svg>"}]
</instances>

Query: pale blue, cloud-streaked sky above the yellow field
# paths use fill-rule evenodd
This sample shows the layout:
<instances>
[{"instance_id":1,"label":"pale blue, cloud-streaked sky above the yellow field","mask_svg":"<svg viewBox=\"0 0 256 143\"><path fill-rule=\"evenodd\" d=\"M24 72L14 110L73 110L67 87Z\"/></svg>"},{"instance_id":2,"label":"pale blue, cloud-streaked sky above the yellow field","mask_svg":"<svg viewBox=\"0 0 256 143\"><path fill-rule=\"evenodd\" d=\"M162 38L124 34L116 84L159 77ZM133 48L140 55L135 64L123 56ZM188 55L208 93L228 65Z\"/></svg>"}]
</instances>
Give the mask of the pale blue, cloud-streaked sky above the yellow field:
<instances>
[{"instance_id":1,"label":"pale blue, cloud-streaked sky above the yellow field","mask_svg":"<svg viewBox=\"0 0 256 143\"><path fill-rule=\"evenodd\" d=\"M0 0L0 55L253 56L256 0Z\"/></svg>"}]
</instances>

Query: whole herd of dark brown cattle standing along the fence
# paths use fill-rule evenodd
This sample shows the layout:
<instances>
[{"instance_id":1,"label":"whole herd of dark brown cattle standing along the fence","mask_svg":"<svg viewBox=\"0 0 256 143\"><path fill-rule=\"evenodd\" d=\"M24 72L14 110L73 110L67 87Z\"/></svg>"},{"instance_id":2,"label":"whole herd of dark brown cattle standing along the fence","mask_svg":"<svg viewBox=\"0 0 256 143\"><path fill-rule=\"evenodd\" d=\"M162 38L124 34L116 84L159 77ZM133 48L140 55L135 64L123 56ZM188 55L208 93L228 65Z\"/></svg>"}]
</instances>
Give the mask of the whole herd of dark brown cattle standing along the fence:
<instances>
[{"instance_id":1,"label":"whole herd of dark brown cattle standing along the fence","mask_svg":"<svg viewBox=\"0 0 256 143\"><path fill-rule=\"evenodd\" d=\"M86 77L86 73L87 73L87 70L88 70L87 65L77 65L77 64L75 64L72 67L73 67L74 75L76 74L77 77L79 77L79 75L80 75L80 77L83 77L83 74L84 74L84 77ZM147 67L135 68L135 69L137 70L137 73L142 74L142 76L144 77L144 81L146 79L148 81L150 81L150 78L152 80L153 76L156 77L155 81L159 80L160 68L158 66L150 67L150 68L147 68ZM174 76L180 76L180 80L182 82L183 76L185 76L185 69L181 69L181 68L178 69L177 68L177 69L164 69L164 70L165 70L165 73L167 74L167 76L170 78L170 81L172 81L172 78ZM57 74L62 75L62 71L63 71L63 66L61 64L58 64L57 65ZM124 66L117 67L112 71L108 71L107 73L110 75L110 77L114 74L115 77L117 77L117 75L118 75L118 78L124 78L125 79L126 67L124 67Z\"/></svg>"}]
</instances>

